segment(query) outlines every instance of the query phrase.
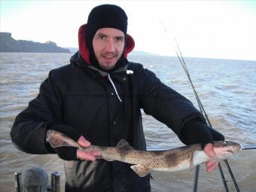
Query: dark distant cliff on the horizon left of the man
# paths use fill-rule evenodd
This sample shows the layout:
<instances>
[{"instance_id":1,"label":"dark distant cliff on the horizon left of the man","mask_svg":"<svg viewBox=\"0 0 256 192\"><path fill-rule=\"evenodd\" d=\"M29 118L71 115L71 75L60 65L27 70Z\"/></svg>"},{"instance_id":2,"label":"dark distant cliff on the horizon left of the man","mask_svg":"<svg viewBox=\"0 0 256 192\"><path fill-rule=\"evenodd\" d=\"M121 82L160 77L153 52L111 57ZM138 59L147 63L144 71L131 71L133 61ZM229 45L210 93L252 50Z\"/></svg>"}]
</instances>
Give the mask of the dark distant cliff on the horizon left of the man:
<instances>
[{"instance_id":1,"label":"dark distant cliff on the horizon left of the man","mask_svg":"<svg viewBox=\"0 0 256 192\"><path fill-rule=\"evenodd\" d=\"M17 41L11 37L10 32L0 32L0 52L70 53L70 50L58 47L52 41L44 44L26 40Z\"/></svg>"}]
</instances>

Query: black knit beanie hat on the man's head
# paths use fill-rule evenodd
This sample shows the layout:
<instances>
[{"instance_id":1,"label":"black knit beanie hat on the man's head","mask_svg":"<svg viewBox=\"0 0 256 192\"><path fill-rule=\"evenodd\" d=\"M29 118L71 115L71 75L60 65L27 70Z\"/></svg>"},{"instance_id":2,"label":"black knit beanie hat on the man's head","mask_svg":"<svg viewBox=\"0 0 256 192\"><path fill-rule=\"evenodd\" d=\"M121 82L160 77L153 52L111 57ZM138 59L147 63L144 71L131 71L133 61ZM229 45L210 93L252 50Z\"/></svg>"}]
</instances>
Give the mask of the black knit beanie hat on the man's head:
<instances>
[{"instance_id":1,"label":"black knit beanie hat on the man's head","mask_svg":"<svg viewBox=\"0 0 256 192\"><path fill-rule=\"evenodd\" d=\"M90 11L87 20L87 43L93 42L93 37L98 29L114 28L119 29L126 36L127 16L122 8L117 5L99 5Z\"/></svg>"}]
</instances>

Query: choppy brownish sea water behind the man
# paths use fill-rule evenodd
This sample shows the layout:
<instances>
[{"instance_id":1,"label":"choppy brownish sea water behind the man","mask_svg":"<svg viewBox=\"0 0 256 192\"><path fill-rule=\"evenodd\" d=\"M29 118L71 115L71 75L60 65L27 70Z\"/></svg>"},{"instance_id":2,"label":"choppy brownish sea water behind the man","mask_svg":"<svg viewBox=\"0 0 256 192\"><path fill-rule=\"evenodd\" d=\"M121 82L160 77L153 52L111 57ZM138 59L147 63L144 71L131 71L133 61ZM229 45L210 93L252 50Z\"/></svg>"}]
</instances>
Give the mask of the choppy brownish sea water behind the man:
<instances>
[{"instance_id":1,"label":"choppy brownish sea water behind the man","mask_svg":"<svg viewBox=\"0 0 256 192\"><path fill-rule=\"evenodd\" d=\"M69 64L72 53L0 53L0 191L14 191L14 172L42 166L47 172L61 173L62 160L54 154L26 154L11 143L10 131L16 115L38 94L50 69ZM194 102L178 58L167 56L129 56L154 72L164 84ZM227 140L256 144L256 61L185 58L190 78L212 126ZM183 145L163 123L143 113L148 148L175 148ZM256 190L256 151L239 151L229 160L241 191ZM221 163L230 191L236 191L224 163ZM200 166L198 191L225 191L218 169L206 173ZM152 191L191 191L194 170L152 172Z\"/></svg>"}]
</instances>

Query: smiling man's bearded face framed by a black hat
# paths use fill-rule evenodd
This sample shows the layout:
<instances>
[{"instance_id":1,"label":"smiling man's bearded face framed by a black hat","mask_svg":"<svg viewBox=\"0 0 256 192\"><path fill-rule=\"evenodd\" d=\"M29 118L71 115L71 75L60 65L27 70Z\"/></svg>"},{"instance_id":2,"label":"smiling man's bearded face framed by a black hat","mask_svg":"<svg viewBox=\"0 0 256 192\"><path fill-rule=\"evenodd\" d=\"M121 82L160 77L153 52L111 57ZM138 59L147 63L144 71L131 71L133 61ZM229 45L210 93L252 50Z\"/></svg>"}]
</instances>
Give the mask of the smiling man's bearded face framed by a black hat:
<instances>
[{"instance_id":1,"label":"smiling man's bearded face framed by a black hat","mask_svg":"<svg viewBox=\"0 0 256 192\"><path fill-rule=\"evenodd\" d=\"M93 37L93 50L102 69L113 69L123 53L124 34L119 29L102 28Z\"/></svg>"}]
</instances>

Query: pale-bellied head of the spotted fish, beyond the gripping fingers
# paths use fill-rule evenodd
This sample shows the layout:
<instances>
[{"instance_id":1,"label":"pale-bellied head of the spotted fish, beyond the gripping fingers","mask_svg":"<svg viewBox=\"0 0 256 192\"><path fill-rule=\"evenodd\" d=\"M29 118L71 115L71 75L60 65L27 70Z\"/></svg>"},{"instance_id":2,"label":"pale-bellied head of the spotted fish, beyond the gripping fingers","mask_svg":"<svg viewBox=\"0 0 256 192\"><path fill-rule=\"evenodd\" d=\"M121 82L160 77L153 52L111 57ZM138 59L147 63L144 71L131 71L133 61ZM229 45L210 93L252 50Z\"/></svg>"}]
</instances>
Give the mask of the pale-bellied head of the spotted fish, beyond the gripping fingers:
<instances>
[{"instance_id":1,"label":"pale-bellied head of the spotted fish, beyond the gripping fingers","mask_svg":"<svg viewBox=\"0 0 256 192\"><path fill-rule=\"evenodd\" d=\"M225 160L228 157L232 156L233 153L239 151L241 149L241 145L236 142L230 141L218 141L213 142L213 151L215 151L216 157L218 159Z\"/></svg>"}]
</instances>

